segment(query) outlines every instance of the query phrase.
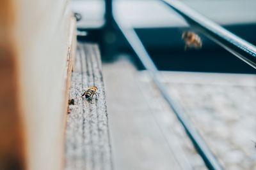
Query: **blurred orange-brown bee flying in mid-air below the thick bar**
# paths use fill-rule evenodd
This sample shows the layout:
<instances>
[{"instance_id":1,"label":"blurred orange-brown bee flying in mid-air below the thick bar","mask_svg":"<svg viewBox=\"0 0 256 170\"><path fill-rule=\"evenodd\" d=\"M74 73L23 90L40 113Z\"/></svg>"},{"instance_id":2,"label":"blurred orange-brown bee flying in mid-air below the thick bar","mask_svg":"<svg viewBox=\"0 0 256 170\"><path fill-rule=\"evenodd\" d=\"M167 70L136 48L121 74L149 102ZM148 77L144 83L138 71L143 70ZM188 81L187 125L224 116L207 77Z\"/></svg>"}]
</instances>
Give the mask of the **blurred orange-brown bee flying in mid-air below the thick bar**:
<instances>
[{"instance_id":1,"label":"blurred orange-brown bee flying in mid-air below the thick bar","mask_svg":"<svg viewBox=\"0 0 256 170\"><path fill-rule=\"evenodd\" d=\"M185 41L185 51L188 47L196 49L200 49L202 47L202 40L195 32L183 32L182 39Z\"/></svg>"}]
</instances>

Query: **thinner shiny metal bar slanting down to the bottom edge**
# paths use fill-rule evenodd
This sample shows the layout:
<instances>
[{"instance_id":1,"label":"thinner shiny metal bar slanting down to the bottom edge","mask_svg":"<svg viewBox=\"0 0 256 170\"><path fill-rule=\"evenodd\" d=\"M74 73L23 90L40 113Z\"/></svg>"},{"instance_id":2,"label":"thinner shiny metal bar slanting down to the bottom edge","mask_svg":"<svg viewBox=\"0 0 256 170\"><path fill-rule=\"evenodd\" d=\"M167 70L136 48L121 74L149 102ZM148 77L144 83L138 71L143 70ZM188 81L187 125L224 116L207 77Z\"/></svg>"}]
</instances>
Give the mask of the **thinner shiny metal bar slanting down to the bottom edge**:
<instances>
[{"instance_id":1,"label":"thinner shiny metal bar slanting down to the bottom edge","mask_svg":"<svg viewBox=\"0 0 256 170\"><path fill-rule=\"evenodd\" d=\"M218 160L216 160L214 155L211 153L211 150L209 150L204 139L202 139L202 137L198 134L196 129L193 127L193 125L191 125L191 122L189 122L184 111L175 103L175 101L173 101L172 97L170 97L168 90L166 89L164 84L161 83L159 74L158 74L158 69L155 66L152 59L150 58L150 56L148 55L147 50L141 43L140 38L138 38L138 35L134 31L134 29L131 27L131 25L125 23L122 20L122 18L118 18L118 15L115 15L115 12L113 13L113 17L116 22L116 25L118 25L118 27L120 28L120 31L124 34L125 38L129 42L129 44L132 46L134 52L136 52L136 54L138 55L143 66L148 70L148 73L150 73L150 76L152 76L152 79L156 83L164 99L170 105L170 108L173 110L173 112L179 119L180 123L183 125L189 138L193 142L193 145L195 146L196 150L204 160L205 165L209 169L223 169L220 166L220 163L218 162Z\"/></svg>"}]
</instances>

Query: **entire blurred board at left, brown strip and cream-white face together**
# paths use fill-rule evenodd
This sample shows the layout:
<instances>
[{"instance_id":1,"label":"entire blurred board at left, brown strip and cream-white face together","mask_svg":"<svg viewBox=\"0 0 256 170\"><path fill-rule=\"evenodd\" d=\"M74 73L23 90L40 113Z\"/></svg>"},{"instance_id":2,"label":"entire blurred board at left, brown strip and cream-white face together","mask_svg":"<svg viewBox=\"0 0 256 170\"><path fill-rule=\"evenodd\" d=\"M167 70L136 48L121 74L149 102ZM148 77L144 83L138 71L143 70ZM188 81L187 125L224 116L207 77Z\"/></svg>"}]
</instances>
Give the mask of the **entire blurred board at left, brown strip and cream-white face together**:
<instances>
[{"instance_id":1,"label":"entire blurred board at left, brown strip and cream-white face together","mask_svg":"<svg viewBox=\"0 0 256 170\"><path fill-rule=\"evenodd\" d=\"M0 169L63 167L70 17L68 0L0 2Z\"/></svg>"}]
</instances>

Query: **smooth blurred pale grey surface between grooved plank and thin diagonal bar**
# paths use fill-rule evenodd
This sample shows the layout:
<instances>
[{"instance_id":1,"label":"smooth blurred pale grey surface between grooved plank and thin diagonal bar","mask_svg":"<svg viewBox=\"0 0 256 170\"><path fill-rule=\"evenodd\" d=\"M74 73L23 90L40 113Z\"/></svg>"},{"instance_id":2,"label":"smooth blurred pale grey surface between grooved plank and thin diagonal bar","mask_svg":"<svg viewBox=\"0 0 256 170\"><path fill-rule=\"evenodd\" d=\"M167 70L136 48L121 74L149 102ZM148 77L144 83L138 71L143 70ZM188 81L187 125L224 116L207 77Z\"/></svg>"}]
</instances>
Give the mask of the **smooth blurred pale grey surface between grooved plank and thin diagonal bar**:
<instances>
[{"instance_id":1,"label":"smooth blurred pale grey surface between grooved plank and thin diagonal bar","mask_svg":"<svg viewBox=\"0 0 256 170\"><path fill-rule=\"evenodd\" d=\"M206 169L153 83L141 83L127 60L103 73L115 169Z\"/></svg>"}]
</instances>

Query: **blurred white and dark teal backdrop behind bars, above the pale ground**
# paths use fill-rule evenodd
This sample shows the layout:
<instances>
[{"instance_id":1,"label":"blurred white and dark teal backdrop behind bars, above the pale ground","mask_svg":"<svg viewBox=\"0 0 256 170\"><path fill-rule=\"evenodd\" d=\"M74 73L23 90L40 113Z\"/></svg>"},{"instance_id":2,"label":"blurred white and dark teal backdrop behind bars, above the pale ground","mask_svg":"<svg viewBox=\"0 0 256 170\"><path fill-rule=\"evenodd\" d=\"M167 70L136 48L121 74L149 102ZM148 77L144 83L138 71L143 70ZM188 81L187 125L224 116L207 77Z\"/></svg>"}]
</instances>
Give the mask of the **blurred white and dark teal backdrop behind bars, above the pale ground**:
<instances>
[{"instance_id":1,"label":"blurred white and dark teal backdrop behind bars, above the pale ground","mask_svg":"<svg viewBox=\"0 0 256 170\"><path fill-rule=\"evenodd\" d=\"M253 34L256 27L256 13L253 8L255 1L184 0L182 2L255 45L256 36ZM195 31L195 29L189 28L182 17L161 1L116 0L113 6L116 7L116 14L134 27L143 45L161 70L255 73L252 67L233 57L200 32L198 34L202 38L203 48L185 52L182 32ZM83 15L78 22L78 28L95 31L95 34L94 32L88 34L87 39L100 43L104 43L107 39L114 44L116 53L132 52L117 27L115 34L106 35L104 39L101 39L100 33L96 31L104 25L104 1L75 0L72 8Z\"/></svg>"}]
</instances>

